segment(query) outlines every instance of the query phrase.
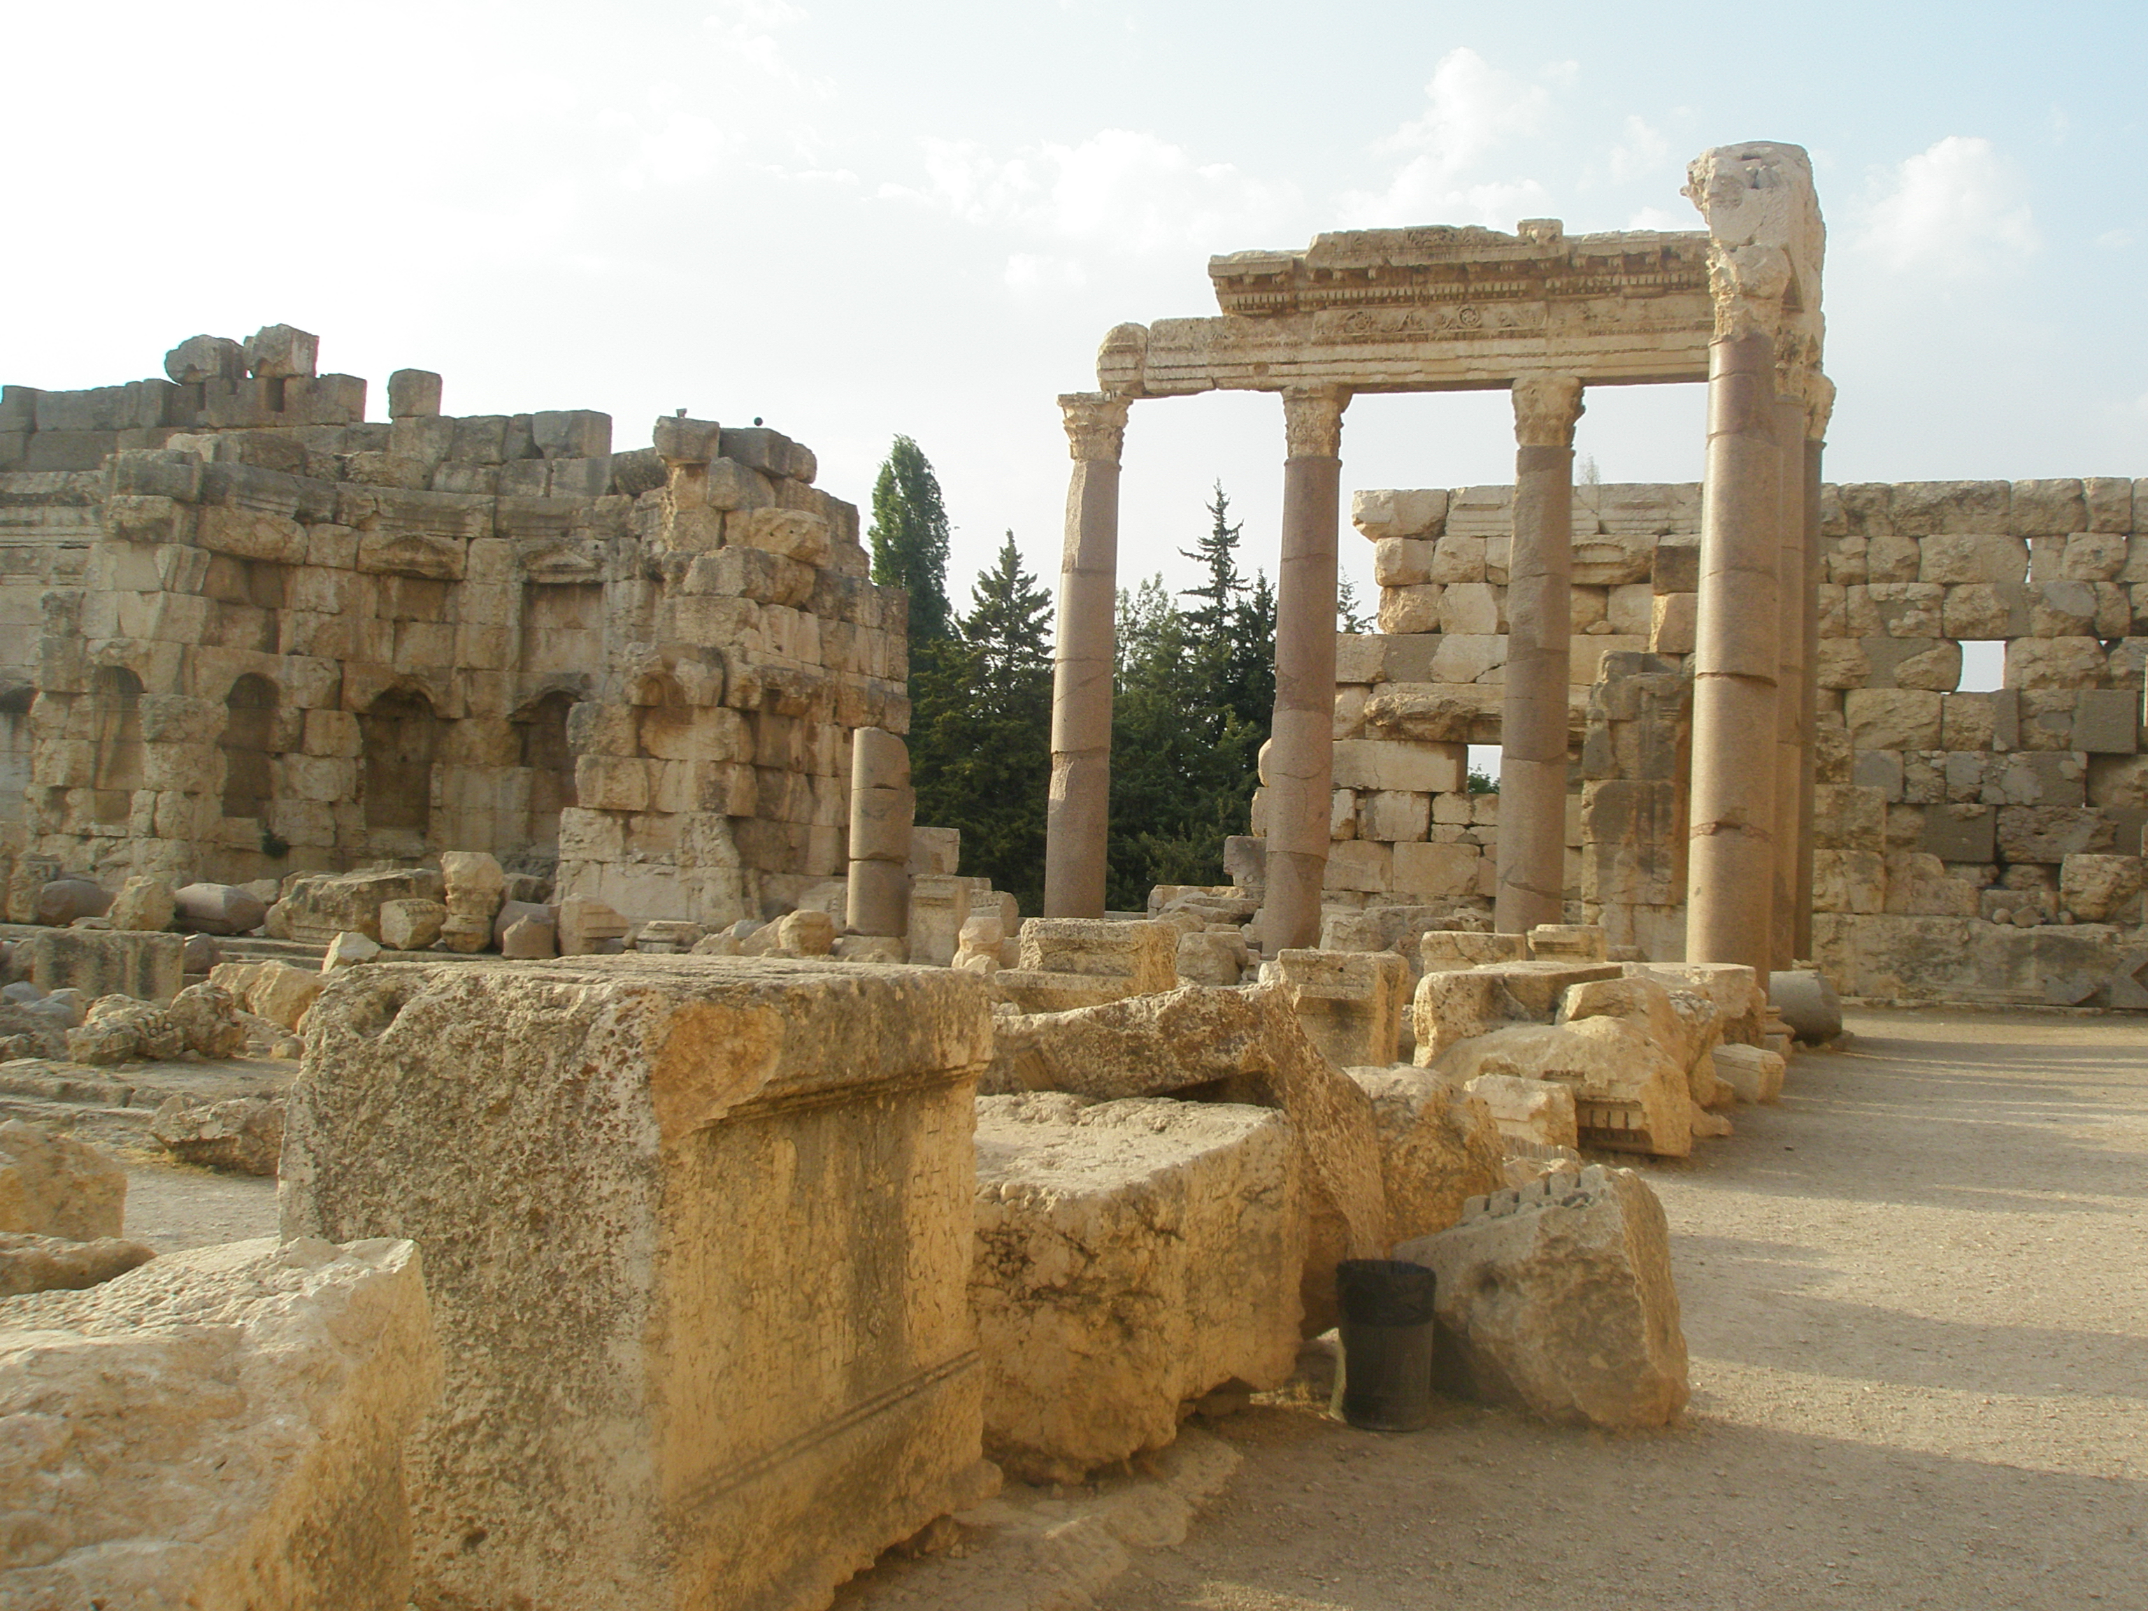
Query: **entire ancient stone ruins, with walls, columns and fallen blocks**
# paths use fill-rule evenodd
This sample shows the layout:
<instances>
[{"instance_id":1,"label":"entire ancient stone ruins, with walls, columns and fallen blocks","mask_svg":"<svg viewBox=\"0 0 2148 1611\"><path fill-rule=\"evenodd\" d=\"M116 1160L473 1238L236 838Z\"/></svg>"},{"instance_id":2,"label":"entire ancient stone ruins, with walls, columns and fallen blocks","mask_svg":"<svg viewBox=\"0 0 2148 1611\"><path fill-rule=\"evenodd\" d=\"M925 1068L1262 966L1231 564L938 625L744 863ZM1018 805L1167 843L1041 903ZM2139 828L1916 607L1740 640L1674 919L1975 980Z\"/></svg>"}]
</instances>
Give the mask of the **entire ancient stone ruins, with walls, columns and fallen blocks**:
<instances>
[{"instance_id":1,"label":"entire ancient stone ruins, with walls, columns and fallen blocks","mask_svg":"<svg viewBox=\"0 0 2148 1611\"><path fill-rule=\"evenodd\" d=\"M0 1609L825 1607L1285 1388L1353 1259L1435 1272L1443 1392L1678 1416L1637 1166L1839 995L2148 1005L2148 483L1826 483L1806 157L1686 193L1111 331L1031 915L913 821L906 601L799 442L367 421L290 326L9 387ZM1574 485L1667 382L1706 481ZM1216 387L1289 449L1263 788L1106 913L1121 436ZM1514 485L1360 492L1338 636L1345 408L1456 389ZM112 1145L279 1237L127 1239Z\"/></svg>"}]
</instances>

